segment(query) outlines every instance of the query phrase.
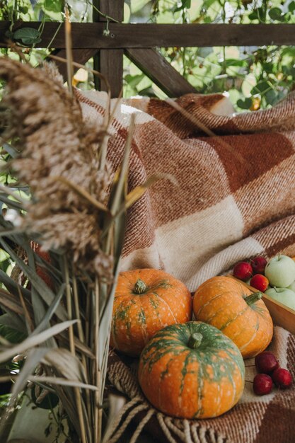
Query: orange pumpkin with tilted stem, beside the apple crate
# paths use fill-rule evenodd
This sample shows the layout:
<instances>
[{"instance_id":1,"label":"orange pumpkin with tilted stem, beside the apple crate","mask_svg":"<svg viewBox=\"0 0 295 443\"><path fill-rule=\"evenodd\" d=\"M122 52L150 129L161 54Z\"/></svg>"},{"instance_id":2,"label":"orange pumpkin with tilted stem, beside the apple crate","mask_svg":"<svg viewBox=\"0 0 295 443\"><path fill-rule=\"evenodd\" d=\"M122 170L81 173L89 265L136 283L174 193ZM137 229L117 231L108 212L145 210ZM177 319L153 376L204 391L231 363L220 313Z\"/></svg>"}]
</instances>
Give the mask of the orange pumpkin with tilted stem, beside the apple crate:
<instances>
[{"instance_id":1,"label":"orange pumpkin with tilted stem, beside the apple crate","mask_svg":"<svg viewBox=\"0 0 295 443\"><path fill-rule=\"evenodd\" d=\"M236 343L244 358L254 357L270 344L273 323L262 300L247 304L250 289L231 277L213 277L197 289L195 318L215 326Z\"/></svg>"}]
</instances>

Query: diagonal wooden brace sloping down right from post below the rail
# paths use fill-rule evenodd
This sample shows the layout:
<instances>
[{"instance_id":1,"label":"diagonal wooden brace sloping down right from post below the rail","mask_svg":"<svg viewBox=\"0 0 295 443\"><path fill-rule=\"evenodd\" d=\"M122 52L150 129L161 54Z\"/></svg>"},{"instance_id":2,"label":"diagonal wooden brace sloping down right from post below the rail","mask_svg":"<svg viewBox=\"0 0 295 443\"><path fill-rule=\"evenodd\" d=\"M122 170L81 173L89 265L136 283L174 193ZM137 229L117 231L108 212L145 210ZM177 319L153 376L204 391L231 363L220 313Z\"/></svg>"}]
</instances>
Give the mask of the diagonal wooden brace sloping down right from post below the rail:
<instances>
[{"instance_id":1,"label":"diagonal wooden brace sloping down right from post below the rail","mask_svg":"<svg viewBox=\"0 0 295 443\"><path fill-rule=\"evenodd\" d=\"M195 88L154 49L129 49L127 57L169 97L196 92Z\"/></svg>"}]
</instances>

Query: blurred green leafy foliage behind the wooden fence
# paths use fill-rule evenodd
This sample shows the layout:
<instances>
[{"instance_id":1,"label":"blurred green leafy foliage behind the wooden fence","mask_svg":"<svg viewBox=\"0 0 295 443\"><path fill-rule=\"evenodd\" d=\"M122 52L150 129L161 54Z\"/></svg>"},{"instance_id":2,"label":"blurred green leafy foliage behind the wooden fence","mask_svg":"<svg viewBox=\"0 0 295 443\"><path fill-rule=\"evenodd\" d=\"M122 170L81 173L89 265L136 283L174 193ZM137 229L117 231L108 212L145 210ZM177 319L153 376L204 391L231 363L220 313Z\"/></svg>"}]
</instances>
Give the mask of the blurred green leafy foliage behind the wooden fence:
<instances>
[{"instance_id":1,"label":"blurred green leafy foliage behind the wooden fence","mask_svg":"<svg viewBox=\"0 0 295 443\"><path fill-rule=\"evenodd\" d=\"M94 5L90 0L69 0L68 4L72 21L92 21L95 1ZM10 35L21 38L24 45L35 47L42 40L45 21L64 20L64 0L2 0L0 9L1 20L40 21L40 29L35 33L26 30L25 35ZM295 23L294 11L294 0L126 0L125 22ZM275 105L294 88L295 47L170 47L158 50L199 93L226 91L237 110L258 110ZM28 56L37 63L42 51L30 51ZM125 97L136 94L165 96L127 59L124 81ZM93 88L92 79L83 71L76 75L75 83L81 88Z\"/></svg>"}]
</instances>

